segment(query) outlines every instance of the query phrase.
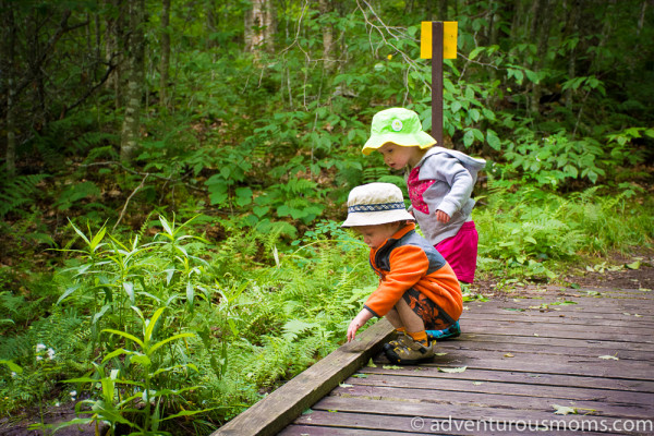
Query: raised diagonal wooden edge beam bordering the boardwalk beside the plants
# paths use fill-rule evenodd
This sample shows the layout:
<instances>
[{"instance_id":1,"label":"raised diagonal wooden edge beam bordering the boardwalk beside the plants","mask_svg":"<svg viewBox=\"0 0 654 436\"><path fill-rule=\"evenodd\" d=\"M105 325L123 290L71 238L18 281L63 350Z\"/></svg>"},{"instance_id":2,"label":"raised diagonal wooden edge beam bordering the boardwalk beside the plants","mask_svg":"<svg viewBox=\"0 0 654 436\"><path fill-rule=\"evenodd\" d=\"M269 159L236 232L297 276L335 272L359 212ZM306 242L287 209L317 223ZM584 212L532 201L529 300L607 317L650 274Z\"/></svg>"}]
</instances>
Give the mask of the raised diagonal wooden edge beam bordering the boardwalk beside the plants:
<instances>
[{"instance_id":1,"label":"raised diagonal wooden edge beam bordering the boardwalk beside the plants","mask_svg":"<svg viewBox=\"0 0 654 436\"><path fill-rule=\"evenodd\" d=\"M390 324L386 319L379 320L359 335L356 341L341 346L211 436L277 434L367 362L391 332Z\"/></svg>"}]
</instances>

